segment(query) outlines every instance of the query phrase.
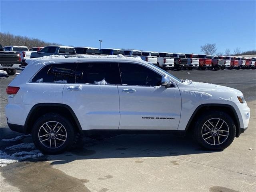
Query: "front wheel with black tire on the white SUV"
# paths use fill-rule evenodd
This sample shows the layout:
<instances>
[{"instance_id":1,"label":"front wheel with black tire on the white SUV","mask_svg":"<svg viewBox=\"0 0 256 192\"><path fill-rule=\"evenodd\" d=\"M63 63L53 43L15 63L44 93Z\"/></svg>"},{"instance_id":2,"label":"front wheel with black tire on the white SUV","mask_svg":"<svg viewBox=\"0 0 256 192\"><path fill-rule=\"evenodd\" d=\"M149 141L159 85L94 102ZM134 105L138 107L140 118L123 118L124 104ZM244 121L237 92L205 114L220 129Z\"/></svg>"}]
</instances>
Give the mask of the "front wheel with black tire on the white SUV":
<instances>
[{"instance_id":1,"label":"front wheel with black tire on the white SUV","mask_svg":"<svg viewBox=\"0 0 256 192\"><path fill-rule=\"evenodd\" d=\"M220 122L218 122L218 119L220 119ZM212 125L208 123L208 120L212 121L211 122L212 125L214 125L214 123L217 124L216 130L211 130ZM223 121L224 123L222 124ZM207 125L210 129L207 127ZM220 126L221 126L221 130L224 129L223 131L219 131L220 129L218 130ZM209 133L204 134L205 132L209 132ZM210 138L208 138L208 136ZM225 112L209 111L201 115L201 117L198 118L198 120L196 121L195 129L194 129L194 138L202 147L206 149L224 150L225 148L230 146L235 136L236 136L236 126L234 124L234 120Z\"/></svg>"}]
</instances>

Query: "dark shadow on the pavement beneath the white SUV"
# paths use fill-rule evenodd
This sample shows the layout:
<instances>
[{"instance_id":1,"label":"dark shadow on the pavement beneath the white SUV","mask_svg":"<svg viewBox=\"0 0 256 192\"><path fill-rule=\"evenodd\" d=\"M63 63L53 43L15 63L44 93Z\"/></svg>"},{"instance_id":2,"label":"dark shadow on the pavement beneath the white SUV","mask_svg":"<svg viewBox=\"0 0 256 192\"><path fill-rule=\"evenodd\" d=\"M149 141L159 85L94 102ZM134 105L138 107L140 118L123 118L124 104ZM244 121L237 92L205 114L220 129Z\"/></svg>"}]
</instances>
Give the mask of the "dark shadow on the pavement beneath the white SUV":
<instances>
[{"instance_id":1,"label":"dark shadow on the pavement beneath the white SUV","mask_svg":"<svg viewBox=\"0 0 256 192\"><path fill-rule=\"evenodd\" d=\"M100 140L80 137L67 152L49 155L46 159L55 165L86 159L166 157L212 152L220 151L205 150L187 137L133 134Z\"/></svg>"}]
</instances>

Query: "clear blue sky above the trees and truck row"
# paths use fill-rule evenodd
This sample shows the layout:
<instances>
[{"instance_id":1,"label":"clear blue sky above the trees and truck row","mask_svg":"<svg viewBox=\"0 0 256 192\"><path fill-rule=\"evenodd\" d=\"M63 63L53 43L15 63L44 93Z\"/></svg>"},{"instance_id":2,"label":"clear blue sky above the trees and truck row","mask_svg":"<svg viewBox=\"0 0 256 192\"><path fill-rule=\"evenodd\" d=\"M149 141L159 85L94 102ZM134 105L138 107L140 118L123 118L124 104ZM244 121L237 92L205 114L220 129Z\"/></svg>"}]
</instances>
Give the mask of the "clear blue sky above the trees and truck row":
<instances>
[{"instance_id":1,"label":"clear blue sky above the trees and truck row","mask_svg":"<svg viewBox=\"0 0 256 192\"><path fill-rule=\"evenodd\" d=\"M64 45L200 53L256 47L256 1L0 0L0 32Z\"/></svg>"}]
</instances>

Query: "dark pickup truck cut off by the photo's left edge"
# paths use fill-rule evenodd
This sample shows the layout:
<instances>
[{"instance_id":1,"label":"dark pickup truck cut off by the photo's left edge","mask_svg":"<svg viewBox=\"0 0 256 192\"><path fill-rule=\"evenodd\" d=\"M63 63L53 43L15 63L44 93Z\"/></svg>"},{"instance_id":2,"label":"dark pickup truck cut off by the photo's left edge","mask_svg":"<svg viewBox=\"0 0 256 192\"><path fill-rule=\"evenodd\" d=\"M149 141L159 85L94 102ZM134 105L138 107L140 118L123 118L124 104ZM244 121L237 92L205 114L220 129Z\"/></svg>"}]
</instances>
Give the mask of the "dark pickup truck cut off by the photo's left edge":
<instances>
[{"instance_id":1,"label":"dark pickup truck cut off by the photo's left edge","mask_svg":"<svg viewBox=\"0 0 256 192\"><path fill-rule=\"evenodd\" d=\"M5 70L8 75L15 75L16 69L20 68L20 53L4 51L0 44L0 70Z\"/></svg>"}]
</instances>

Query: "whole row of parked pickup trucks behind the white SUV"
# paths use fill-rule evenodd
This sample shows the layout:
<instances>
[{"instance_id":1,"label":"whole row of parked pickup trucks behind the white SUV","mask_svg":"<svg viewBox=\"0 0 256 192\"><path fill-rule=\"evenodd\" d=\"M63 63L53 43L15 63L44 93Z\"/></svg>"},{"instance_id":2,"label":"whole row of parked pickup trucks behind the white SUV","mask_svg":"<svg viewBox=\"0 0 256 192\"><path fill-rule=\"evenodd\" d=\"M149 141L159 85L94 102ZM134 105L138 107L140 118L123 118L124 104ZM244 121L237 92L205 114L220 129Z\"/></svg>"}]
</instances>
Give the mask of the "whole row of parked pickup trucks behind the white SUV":
<instances>
[{"instance_id":1,"label":"whole row of parked pickup trucks behind the white SUV","mask_svg":"<svg viewBox=\"0 0 256 192\"><path fill-rule=\"evenodd\" d=\"M2 48L2 46L1 46ZM3 52L3 53L2 53ZM254 69L256 58L238 56L212 56L206 54L183 54L171 52L154 52L140 50L122 50L114 48L98 49L93 47L70 47L70 46L4 46L1 50L0 69L6 70L11 75L16 69L25 67L26 59L38 58L50 55L79 56L90 55L124 55L126 57L140 57L142 60L152 63L164 70L199 69L199 70L224 70L224 69ZM8 55L8 57L7 57ZM15 58L10 59L11 56ZM15 60L15 61L14 61Z\"/></svg>"}]
</instances>

